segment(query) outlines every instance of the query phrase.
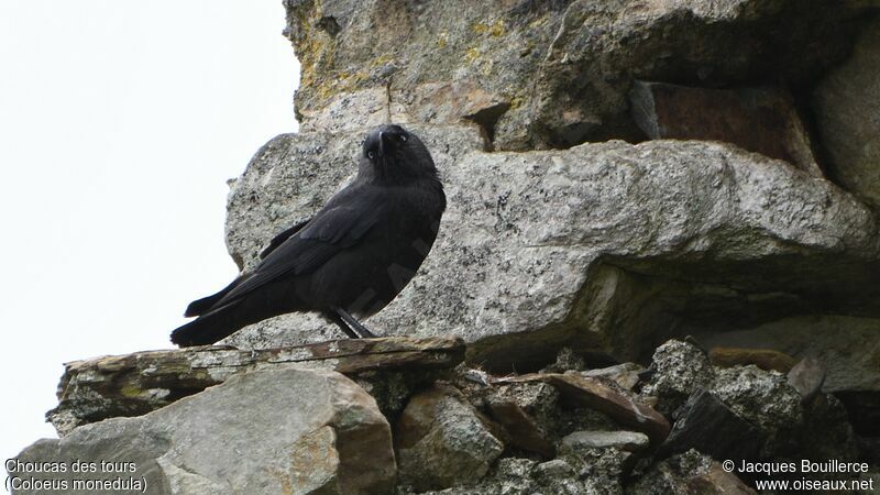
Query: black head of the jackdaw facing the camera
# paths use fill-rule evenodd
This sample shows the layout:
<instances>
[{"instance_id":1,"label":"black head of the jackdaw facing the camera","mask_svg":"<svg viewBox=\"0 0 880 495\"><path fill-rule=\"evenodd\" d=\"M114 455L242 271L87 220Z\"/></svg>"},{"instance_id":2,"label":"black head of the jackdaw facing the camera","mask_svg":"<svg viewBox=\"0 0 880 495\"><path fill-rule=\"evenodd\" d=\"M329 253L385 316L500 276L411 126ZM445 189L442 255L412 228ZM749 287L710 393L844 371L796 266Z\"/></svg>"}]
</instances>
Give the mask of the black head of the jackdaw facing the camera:
<instances>
[{"instance_id":1,"label":"black head of the jackdaw facing the camera","mask_svg":"<svg viewBox=\"0 0 880 495\"><path fill-rule=\"evenodd\" d=\"M383 182L437 178L437 166L421 140L397 124L374 129L364 140L360 170Z\"/></svg>"}]
</instances>

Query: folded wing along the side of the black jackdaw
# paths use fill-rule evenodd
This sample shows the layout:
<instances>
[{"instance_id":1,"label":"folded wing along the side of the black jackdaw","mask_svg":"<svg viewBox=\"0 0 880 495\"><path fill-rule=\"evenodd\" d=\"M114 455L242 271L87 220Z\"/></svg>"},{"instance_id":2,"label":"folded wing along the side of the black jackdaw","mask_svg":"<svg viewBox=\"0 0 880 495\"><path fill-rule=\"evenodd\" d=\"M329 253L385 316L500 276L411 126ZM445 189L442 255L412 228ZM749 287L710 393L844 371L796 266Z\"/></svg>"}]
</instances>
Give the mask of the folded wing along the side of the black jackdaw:
<instances>
[{"instance_id":1,"label":"folded wing along the side of the black jackdaw","mask_svg":"<svg viewBox=\"0 0 880 495\"><path fill-rule=\"evenodd\" d=\"M358 244L386 218L387 202L380 195L362 194L353 201L330 202L298 232L288 237L213 308L241 299L286 275L314 272L337 253Z\"/></svg>"}]
</instances>

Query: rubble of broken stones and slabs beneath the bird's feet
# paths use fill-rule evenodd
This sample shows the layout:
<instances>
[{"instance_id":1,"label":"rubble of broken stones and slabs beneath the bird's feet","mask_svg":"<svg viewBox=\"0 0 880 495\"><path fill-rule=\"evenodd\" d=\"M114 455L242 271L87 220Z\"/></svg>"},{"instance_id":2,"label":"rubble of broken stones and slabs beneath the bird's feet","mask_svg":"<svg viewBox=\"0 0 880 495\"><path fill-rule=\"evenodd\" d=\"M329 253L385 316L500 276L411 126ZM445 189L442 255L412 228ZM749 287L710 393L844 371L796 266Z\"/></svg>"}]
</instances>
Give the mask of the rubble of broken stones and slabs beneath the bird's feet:
<instances>
[{"instance_id":1,"label":"rubble of broken stones and slabs beneath the bird's feet","mask_svg":"<svg viewBox=\"0 0 880 495\"><path fill-rule=\"evenodd\" d=\"M76 480L136 481L148 493L580 495L681 486L750 493L737 477L749 482L749 473L725 472L717 462L806 455L846 462L859 455L834 396L814 393L805 400L776 371L713 366L689 342L663 344L631 384L636 364L583 370L586 360L571 350L560 353L554 372L449 370L458 362L449 353L461 358L461 348L454 339L385 338L74 363L63 381L63 404L73 414L79 409L72 405L100 393L102 416L61 440L36 442L15 465L124 460L120 466L130 471L43 472L36 479L70 486ZM689 361L697 374L675 365ZM388 400L392 375L369 373L394 370L420 376L410 383L421 386L398 388ZM221 383L180 397L184 385L199 384L202 375ZM127 410L123 389L146 391L156 380L174 391L166 403L152 403L154 410L145 414ZM380 408L383 402L402 406ZM652 404L668 410L681 405L664 415ZM659 492L645 492L649 485Z\"/></svg>"}]
</instances>

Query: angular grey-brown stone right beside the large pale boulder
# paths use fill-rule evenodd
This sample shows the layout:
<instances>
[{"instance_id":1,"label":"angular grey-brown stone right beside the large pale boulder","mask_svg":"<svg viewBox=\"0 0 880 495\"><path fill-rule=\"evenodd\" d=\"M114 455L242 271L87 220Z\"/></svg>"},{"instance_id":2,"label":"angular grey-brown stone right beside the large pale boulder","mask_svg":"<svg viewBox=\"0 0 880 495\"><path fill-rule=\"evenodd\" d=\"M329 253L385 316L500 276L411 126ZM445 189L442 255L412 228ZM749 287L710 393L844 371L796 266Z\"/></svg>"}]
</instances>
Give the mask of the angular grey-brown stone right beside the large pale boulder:
<instances>
[{"instance_id":1,"label":"angular grey-brown stone right beside the large pale boulder","mask_svg":"<svg viewBox=\"0 0 880 495\"><path fill-rule=\"evenodd\" d=\"M474 484L504 451L490 421L449 386L410 398L394 441L400 483L419 491Z\"/></svg>"}]
</instances>

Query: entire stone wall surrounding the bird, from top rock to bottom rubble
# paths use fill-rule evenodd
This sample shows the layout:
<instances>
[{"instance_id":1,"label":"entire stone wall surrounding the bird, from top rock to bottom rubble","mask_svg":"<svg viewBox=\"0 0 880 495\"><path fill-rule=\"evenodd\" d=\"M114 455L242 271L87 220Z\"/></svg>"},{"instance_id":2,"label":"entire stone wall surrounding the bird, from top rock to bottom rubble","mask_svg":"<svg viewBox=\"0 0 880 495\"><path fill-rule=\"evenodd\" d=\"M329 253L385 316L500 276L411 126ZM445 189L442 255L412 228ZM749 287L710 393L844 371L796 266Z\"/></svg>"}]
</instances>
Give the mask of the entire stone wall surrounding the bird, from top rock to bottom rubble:
<instances>
[{"instance_id":1,"label":"entire stone wall surrounding the bird, from top rock to bottom rubble","mask_svg":"<svg viewBox=\"0 0 880 495\"><path fill-rule=\"evenodd\" d=\"M880 490L880 6L285 7L301 132L232 183L229 251L251 270L403 123L449 209L383 338L292 315L69 363L63 437L22 462L129 461L148 493L664 494L812 459Z\"/></svg>"}]
</instances>

